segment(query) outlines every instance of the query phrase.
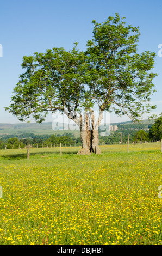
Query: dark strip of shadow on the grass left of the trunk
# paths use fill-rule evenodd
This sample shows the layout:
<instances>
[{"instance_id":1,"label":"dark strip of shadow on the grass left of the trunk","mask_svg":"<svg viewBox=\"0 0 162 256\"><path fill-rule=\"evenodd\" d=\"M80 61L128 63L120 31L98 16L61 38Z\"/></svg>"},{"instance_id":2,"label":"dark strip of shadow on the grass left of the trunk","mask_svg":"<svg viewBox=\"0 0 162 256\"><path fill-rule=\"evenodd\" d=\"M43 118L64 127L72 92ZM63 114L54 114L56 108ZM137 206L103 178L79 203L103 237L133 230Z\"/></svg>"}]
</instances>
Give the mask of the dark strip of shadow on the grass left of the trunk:
<instances>
[{"instance_id":1,"label":"dark strip of shadow on the grass left of the trunk","mask_svg":"<svg viewBox=\"0 0 162 256\"><path fill-rule=\"evenodd\" d=\"M73 152L62 152L62 156L64 155L76 155L78 151L73 151ZM40 152L40 153L30 153L30 157L32 156L38 156L38 159L40 159L41 156L48 156L52 157L53 155L60 156L60 152ZM12 155L2 155L2 159L6 160L20 160L20 159L27 159L27 154L22 153L22 154L12 154ZM45 157L46 158L46 157Z\"/></svg>"}]
</instances>

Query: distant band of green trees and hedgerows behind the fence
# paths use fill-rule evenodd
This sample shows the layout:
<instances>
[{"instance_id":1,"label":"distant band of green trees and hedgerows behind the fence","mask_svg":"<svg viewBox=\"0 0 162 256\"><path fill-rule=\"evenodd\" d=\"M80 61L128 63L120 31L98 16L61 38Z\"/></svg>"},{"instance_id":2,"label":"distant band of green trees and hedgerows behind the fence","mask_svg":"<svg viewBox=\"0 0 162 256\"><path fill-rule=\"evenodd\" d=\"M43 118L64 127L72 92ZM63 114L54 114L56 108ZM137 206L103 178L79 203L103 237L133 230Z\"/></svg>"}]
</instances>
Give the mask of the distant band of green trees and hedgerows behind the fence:
<instances>
[{"instance_id":1,"label":"distant band of green trees and hedgerows behind the fence","mask_svg":"<svg viewBox=\"0 0 162 256\"><path fill-rule=\"evenodd\" d=\"M118 125L118 130L111 132L109 136L101 136L101 132L99 132L99 144L105 145L110 143L119 143L121 139L122 143L126 143L128 141L128 134L129 141L134 143L141 141L141 138L142 142L159 141L162 139L162 113L160 114L159 118L155 119L153 125L141 125L142 124L132 123ZM149 130L145 131L144 129L148 126ZM132 130L133 127L140 130ZM59 143L66 146L79 146L81 145L81 139L80 136L76 138L71 132L65 132L63 135L60 135L59 133L56 135L35 135L34 133L3 135L0 139L0 149L24 148L28 143L32 144L32 147L38 148L51 146L57 147Z\"/></svg>"}]
</instances>

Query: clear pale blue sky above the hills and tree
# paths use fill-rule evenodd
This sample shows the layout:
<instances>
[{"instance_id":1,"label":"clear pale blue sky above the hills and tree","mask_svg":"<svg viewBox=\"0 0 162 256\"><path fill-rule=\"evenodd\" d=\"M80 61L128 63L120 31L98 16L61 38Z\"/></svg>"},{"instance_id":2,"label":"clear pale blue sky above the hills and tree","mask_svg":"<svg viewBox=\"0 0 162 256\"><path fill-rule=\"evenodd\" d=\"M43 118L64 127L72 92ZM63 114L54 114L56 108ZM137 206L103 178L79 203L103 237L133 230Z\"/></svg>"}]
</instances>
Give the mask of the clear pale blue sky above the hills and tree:
<instances>
[{"instance_id":1,"label":"clear pale blue sky above the hills and tree","mask_svg":"<svg viewBox=\"0 0 162 256\"><path fill-rule=\"evenodd\" d=\"M139 26L140 39L138 52L157 53L154 79L157 93L152 101L162 112L162 57L158 56L162 44L161 13L162 1L128 0L28 0L1 1L0 3L0 44L3 57L0 57L0 123L18 123L4 107L10 103L13 88L16 86L21 69L22 57L34 52L45 52L47 48L64 47L71 50L74 42L84 51L86 42L92 39L92 20L104 22L109 16L119 13L126 17L126 23ZM111 114L111 123L127 121ZM51 115L46 121L53 121Z\"/></svg>"}]
</instances>

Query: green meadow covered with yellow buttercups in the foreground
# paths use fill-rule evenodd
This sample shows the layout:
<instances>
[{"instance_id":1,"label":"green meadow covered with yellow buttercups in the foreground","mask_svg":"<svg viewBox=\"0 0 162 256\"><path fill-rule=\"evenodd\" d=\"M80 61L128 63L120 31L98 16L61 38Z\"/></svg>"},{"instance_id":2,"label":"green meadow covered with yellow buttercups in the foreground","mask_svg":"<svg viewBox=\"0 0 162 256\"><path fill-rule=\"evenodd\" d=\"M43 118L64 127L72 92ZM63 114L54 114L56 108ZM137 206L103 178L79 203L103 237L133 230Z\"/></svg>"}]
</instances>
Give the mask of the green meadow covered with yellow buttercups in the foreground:
<instances>
[{"instance_id":1,"label":"green meadow covered with yellow buttercups in the foreground","mask_svg":"<svg viewBox=\"0 0 162 256\"><path fill-rule=\"evenodd\" d=\"M0 150L0 245L161 245L160 143L78 150Z\"/></svg>"}]
</instances>

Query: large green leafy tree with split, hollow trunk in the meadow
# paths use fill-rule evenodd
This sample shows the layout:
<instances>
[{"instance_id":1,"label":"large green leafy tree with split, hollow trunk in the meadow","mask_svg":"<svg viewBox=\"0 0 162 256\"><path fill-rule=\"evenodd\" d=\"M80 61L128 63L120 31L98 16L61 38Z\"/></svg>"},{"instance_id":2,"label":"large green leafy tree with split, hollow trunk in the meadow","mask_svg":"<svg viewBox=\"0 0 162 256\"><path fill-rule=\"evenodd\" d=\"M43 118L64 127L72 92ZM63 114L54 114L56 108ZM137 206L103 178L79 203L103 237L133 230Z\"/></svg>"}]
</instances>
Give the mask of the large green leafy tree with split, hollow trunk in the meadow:
<instances>
[{"instance_id":1,"label":"large green leafy tree with split, hollow trunk in the meadow","mask_svg":"<svg viewBox=\"0 0 162 256\"><path fill-rule=\"evenodd\" d=\"M100 154L98 127L104 111L138 121L155 108L145 103L154 92L155 53L137 53L139 28L126 26L123 20L116 14L103 23L92 21L94 36L85 52L76 44L71 51L53 48L24 56L26 72L14 88L13 103L5 109L20 121L32 116L40 123L49 112L65 113L80 127L78 154Z\"/></svg>"}]
</instances>

